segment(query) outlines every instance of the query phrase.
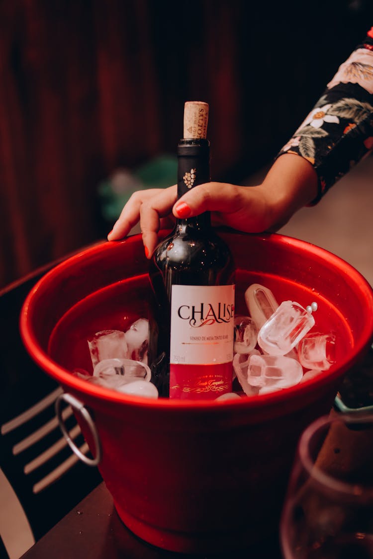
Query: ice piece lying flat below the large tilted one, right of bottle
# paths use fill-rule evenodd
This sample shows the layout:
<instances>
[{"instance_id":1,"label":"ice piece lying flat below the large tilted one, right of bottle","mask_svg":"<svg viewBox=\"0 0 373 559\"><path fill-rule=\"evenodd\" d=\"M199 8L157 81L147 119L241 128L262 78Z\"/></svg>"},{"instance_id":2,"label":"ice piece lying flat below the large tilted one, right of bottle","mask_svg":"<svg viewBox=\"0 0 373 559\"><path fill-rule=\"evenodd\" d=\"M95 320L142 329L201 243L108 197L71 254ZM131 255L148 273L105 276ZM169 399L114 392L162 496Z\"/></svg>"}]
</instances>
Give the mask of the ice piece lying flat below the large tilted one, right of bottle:
<instances>
[{"instance_id":1,"label":"ice piece lying flat below the large tilted one, right of bottle","mask_svg":"<svg viewBox=\"0 0 373 559\"><path fill-rule=\"evenodd\" d=\"M303 376L301 364L285 356L252 355L249 358L247 382L259 388L287 388L300 382Z\"/></svg>"}]
</instances>

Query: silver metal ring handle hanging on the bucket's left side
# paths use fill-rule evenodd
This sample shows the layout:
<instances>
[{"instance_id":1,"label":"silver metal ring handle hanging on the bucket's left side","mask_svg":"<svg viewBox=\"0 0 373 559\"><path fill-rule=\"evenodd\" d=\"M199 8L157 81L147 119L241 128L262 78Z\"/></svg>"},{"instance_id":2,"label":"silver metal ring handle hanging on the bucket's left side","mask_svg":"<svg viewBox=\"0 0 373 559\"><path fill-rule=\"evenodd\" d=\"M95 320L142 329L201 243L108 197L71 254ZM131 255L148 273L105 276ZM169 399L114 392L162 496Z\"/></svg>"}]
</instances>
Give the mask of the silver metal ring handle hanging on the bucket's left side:
<instances>
[{"instance_id":1,"label":"silver metal ring handle hanging on the bucket's left side","mask_svg":"<svg viewBox=\"0 0 373 559\"><path fill-rule=\"evenodd\" d=\"M64 420L63 420L63 417L62 417L61 404L62 404L63 400L65 402L67 402L67 404L69 404L73 408L74 411L76 411L78 414L81 414L84 421L86 421L89 429L91 430L91 434L92 434L92 437L93 437L93 442L95 443L95 458L89 458L88 456L83 454L83 452L77 447L77 445L74 443L73 439L70 437L69 432L68 432L67 428L65 427L65 423L64 423ZM56 416L58 418L58 423L59 423L60 429L62 430L62 433L63 433L69 447L72 449L73 453L76 454L76 456L79 459L81 459L82 462L86 463L88 466L97 466L98 463L100 463L100 461L101 461L101 455L102 455L100 438L98 437L95 422L91 418L91 414L89 414L89 411L84 406L84 404L82 404L81 401L79 401L77 398L75 398L71 394L68 394L68 392L63 392L62 394L60 394L56 398L55 411L56 411Z\"/></svg>"}]
</instances>

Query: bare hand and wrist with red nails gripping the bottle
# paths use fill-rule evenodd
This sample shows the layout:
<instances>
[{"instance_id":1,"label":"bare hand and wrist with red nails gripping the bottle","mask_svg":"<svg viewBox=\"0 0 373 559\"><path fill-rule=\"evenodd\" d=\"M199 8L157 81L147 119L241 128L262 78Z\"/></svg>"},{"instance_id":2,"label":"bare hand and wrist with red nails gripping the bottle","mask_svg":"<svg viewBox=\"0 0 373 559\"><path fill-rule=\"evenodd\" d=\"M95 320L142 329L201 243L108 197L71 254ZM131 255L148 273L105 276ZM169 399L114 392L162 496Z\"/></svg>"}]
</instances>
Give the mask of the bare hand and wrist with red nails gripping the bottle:
<instances>
[{"instance_id":1,"label":"bare hand and wrist with red nails gripping the bottle","mask_svg":"<svg viewBox=\"0 0 373 559\"><path fill-rule=\"evenodd\" d=\"M275 231L301 206L317 195L317 175L308 161L286 154L276 160L258 186L237 186L218 182L199 184L180 200L176 185L166 189L135 192L126 203L108 240L122 239L140 221L145 254L157 246L159 229L211 211L214 225L228 225L246 233Z\"/></svg>"}]
</instances>

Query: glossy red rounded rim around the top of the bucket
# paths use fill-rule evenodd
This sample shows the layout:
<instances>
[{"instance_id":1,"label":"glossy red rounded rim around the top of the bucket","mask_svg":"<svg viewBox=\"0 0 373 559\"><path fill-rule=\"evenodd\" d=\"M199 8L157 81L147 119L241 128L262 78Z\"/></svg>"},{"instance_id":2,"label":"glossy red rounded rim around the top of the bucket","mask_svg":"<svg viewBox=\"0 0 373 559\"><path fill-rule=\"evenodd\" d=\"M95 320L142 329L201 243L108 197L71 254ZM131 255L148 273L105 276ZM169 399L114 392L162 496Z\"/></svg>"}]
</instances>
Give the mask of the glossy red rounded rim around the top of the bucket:
<instances>
[{"instance_id":1,"label":"glossy red rounded rim around the top of the bucket","mask_svg":"<svg viewBox=\"0 0 373 559\"><path fill-rule=\"evenodd\" d=\"M227 232L227 229L220 229ZM167 233L165 231L161 232ZM237 236L255 236L262 240L271 240L271 242L280 245L286 245L287 248L297 250L297 252L306 251L310 253L310 248L312 254L322 260L327 259L333 267L338 268L343 271L344 274L348 274L350 280L352 280L356 285L359 286L361 295L365 298L366 305L373 309L373 289L369 282L362 276L360 272L357 271L350 263L343 260L343 258L338 257L336 254L329 252L327 249L318 247L308 241L295 239L293 237L282 235L279 233L241 233L240 231L229 230L229 235ZM68 369L60 366L53 359L51 359L48 353L41 347L37 341L36 335L30 327L30 320L32 313L35 311L35 300L37 296L43 292L45 285L48 284L49 278L58 276L58 274L69 267L74 266L78 260L89 256L97 256L100 253L105 253L107 250L112 250L116 248L119 244L127 243L137 243L141 239L141 234L130 235L125 239L119 241L102 241L102 243L95 243L91 247L83 249L67 259L60 262L55 267L50 269L39 281L35 284L32 290L27 295L25 301L23 302L21 313L20 313L20 333L22 342L25 345L27 352L29 352L31 358L44 370L46 374L53 377L64 387L68 387L73 392L79 392L80 394L86 394L93 399L105 400L112 404L126 404L134 407L146 407L152 406L157 409L183 409L183 410L221 410L224 409L243 409L243 408L262 408L265 405L277 405L280 404L282 400L292 400L309 394L310 389L317 391L320 386L326 384L331 384L341 377L348 369L350 369L353 364L355 364L361 357L363 352L372 344L373 342L373 312L369 315L369 320L363 325L363 332L355 343L355 352L351 358L345 359L342 363L338 364L338 368L334 369L334 366L330 368L329 371L311 378L301 384L291 386L280 391L268 392L267 394L242 397L240 399L232 400L169 400L166 398L149 399L141 396L132 396L121 394L111 389L106 389L101 386L92 385L85 380L75 377L72 372ZM141 242L142 245L142 242Z\"/></svg>"}]
</instances>

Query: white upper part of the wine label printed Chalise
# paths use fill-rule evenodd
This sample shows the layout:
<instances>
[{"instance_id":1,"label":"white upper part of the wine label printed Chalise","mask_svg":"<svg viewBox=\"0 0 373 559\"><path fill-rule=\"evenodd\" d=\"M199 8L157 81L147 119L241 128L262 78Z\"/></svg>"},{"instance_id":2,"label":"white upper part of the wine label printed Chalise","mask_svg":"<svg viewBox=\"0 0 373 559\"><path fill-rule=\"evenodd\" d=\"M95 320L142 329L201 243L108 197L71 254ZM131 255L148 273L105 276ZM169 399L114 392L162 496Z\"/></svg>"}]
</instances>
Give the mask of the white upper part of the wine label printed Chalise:
<instances>
[{"instance_id":1,"label":"white upper part of the wine label printed Chalise","mask_svg":"<svg viewBox=\"0 0 373 559\"><path fill-rule=\"evenodd\" d=\"M171 363L229 363L233 335L234 285L172 286Z\"/></svg>"}]
</instances>

